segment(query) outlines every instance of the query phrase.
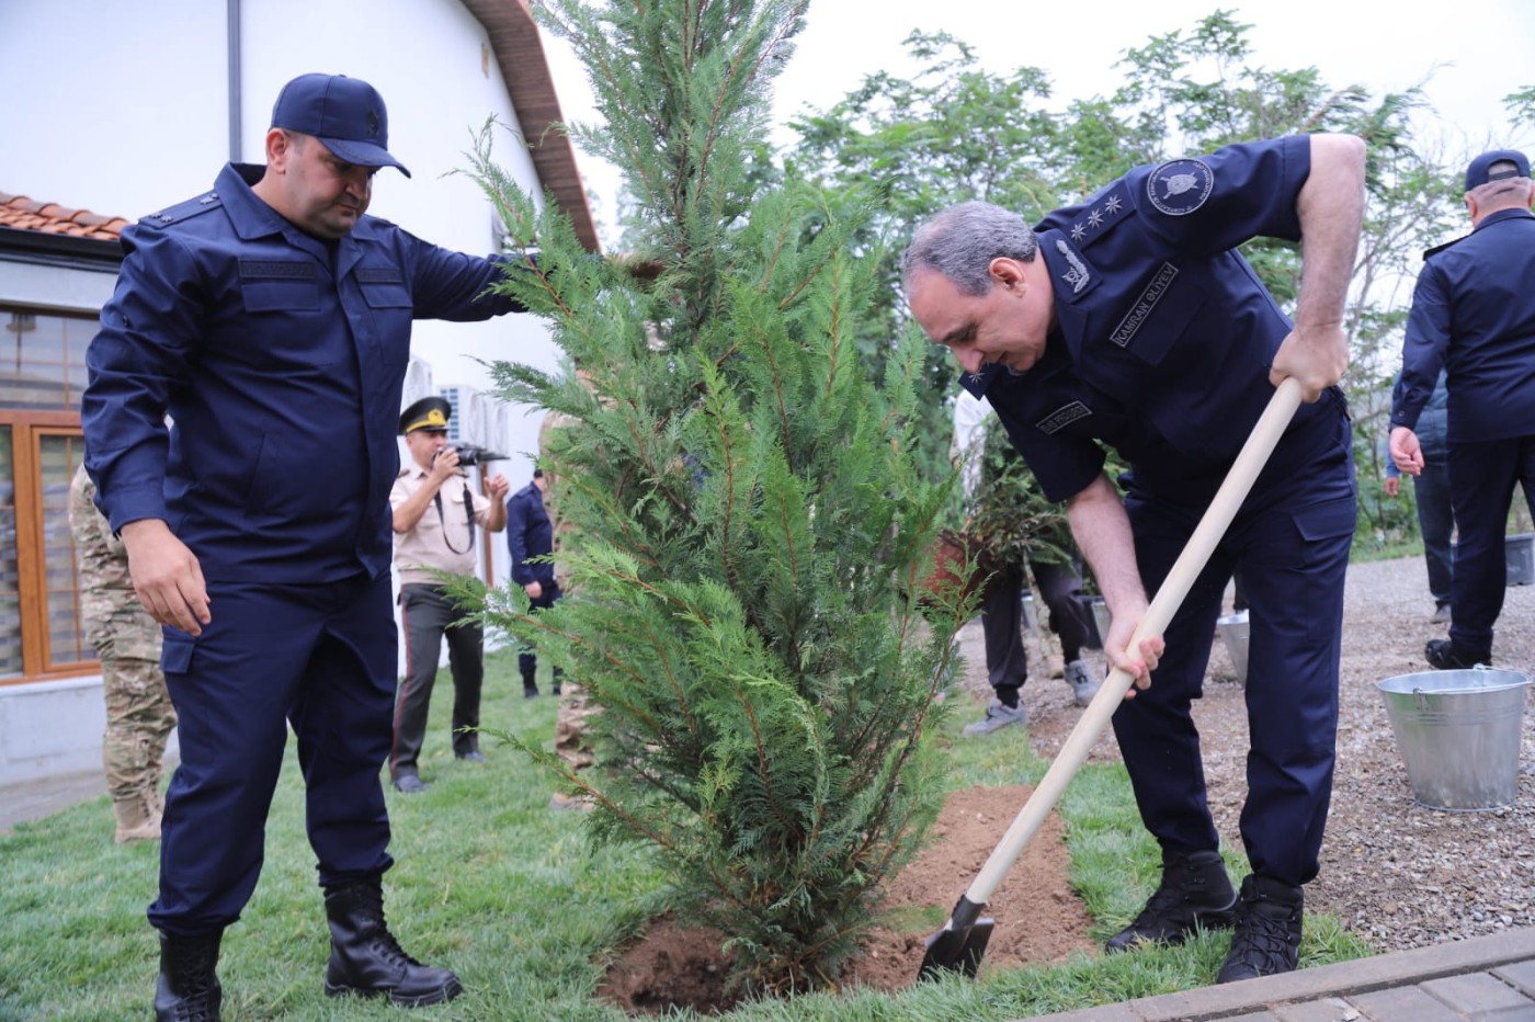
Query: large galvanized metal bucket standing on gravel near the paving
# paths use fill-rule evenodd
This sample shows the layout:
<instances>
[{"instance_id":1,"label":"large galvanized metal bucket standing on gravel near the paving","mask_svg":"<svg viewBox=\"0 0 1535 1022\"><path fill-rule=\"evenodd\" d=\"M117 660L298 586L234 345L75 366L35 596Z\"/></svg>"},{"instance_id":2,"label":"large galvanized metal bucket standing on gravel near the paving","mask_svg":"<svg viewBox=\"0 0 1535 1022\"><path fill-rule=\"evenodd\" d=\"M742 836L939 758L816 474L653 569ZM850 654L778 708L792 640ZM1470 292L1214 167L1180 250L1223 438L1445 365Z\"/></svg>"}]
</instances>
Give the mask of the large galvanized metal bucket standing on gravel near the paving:
<instances>
[{"instance_id":1,"label":"large galvanized metal bucket standing on gravel near the paving","mask_svg":"<svg viewBox=\"0 0 1535 1022\"><path fill-rule=\"evenodd\" d=\"M1403 674L1375 683L1415 803L1451 810L1514 804L1529 684L1527 674L1494 668Z\"/></svg>"}]
</instances>

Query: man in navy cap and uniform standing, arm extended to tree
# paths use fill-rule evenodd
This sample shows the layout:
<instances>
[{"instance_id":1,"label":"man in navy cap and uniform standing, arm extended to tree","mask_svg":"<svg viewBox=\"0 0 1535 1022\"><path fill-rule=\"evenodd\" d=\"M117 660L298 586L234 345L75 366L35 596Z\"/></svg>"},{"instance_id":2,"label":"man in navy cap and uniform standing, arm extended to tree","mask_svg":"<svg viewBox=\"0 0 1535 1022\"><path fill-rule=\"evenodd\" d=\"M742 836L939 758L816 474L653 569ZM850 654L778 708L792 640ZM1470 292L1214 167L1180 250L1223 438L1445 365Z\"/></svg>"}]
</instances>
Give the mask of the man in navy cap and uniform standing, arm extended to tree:
<instances>
[{"instance_id":1,"label":"man in navy cap and uniform standing, arm extended to tree","mask_svg":"<svg viewBox=\"0 0 1535 1022\"><path fill-rule=\"evenodd\" d=\"M158 1019L218 1019L220 939L256 885L287 727L332 936L325 993L460 991L384 921L396 631L388 493L411 319L519 312L502 267L367 216L382 97L339 75L278 95L267 164L123 232L86 364L87 468L166 626L181 720L166 799ZM166 414L173 425L167 428Z\"/></svg>"}]
</instances>

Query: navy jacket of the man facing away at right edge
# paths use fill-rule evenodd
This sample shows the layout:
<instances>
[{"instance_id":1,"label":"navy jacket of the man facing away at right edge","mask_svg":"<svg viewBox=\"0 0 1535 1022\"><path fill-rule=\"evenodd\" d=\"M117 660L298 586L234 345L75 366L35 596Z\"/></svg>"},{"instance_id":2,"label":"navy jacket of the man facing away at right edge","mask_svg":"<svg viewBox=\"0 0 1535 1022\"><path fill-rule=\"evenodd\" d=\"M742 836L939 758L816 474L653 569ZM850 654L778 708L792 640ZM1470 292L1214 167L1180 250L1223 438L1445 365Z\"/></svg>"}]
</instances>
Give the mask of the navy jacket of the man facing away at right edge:
<instances>
[{"instance_id":1,"label":"navy jacket of the man facing away at right edge","mask_svg":"<svg viewBox=\"0 0 1535 1022\"><path fill-rule=\"evenodd\" d=\"M1452 443L1535 434L1535 216L1500 209L1423 259L1391 425L1417 425L1443 365Z\"/></svg>"}]
</instances>

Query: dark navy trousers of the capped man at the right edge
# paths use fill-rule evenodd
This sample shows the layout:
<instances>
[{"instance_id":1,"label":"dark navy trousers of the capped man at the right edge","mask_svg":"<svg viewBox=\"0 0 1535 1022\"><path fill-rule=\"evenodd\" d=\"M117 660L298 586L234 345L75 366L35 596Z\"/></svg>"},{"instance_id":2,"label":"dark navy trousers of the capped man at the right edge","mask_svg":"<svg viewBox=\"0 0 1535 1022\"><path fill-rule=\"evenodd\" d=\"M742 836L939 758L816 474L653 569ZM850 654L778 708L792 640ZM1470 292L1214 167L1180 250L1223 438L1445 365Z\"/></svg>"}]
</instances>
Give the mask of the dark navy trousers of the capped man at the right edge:
<instances>
[{"instance_id":1,"label":"dark navy trousers of the capped man at the right edge","mask_svg":"<svg viewBox=\"0 0 1535 1022\"><path fill-rule=\"evenodd\" d=\"M1509 583L1503 534L1514 485L1535 514L1535 436L1449 445L1449 480L1455 503L1455 575L1451 580L1449 641L1475 657L1489 657L1492 626L1503 614Z\"/></svg>"}]
</instances>

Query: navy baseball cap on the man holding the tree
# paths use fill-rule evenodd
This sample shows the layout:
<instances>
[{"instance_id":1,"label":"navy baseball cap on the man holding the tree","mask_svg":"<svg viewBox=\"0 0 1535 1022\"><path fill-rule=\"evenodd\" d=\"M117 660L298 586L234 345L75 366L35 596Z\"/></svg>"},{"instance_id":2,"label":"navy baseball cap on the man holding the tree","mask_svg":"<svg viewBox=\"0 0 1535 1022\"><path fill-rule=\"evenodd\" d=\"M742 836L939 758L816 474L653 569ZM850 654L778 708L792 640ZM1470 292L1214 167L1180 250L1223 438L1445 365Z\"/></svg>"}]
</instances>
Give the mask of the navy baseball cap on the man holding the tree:
<instances>
[{"instance_id":1,"label":"navy baseball cap on the man holding the tree","mask_svg":"<svg viewBox=\"0 0 1535 1022\"><path fill-rule=\"evenodd\" d=\"M388 155L388 110L378 89L345 75L299 75L282 86L272 127L313 135L336 157L359 167L405 169Z\"/></svg>"}]
</instances>

